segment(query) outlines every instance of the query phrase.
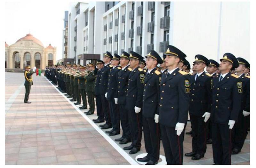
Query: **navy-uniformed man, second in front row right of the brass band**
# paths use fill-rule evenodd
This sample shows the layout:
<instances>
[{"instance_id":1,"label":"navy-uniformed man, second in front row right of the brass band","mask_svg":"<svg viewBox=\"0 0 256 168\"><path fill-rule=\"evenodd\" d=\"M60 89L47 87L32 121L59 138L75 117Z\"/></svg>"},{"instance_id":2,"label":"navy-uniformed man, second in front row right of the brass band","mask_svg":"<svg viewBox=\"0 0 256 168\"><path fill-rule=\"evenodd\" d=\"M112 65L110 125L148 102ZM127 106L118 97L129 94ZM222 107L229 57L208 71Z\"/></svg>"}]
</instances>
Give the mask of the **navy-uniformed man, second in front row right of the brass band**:
<instances>
[{"instance_id":1,"label":"navy-uniformed man, second in front row right of the brass band","mask_svg":"<svg viewBox=\"0 0 256 168\"><path fill-rule=\"evenodd\" d=\"M110 111L109 111L109 104L108 100L105 97L105 94L107 93L108 89L108 75L110 73L110 69L113 68L110 61L113 58L113 56L110 54L110 52L106 52L106 54L103 56L103 62L104 67L102 68L102 71L100 72L100 99L103 107L104 112L104 118L106 120L105 124L100 125L101 129L108 129L112 128L111 119L110 119ZM98 88L97 88L98 89Z\"/></svg>"}]
</instances>

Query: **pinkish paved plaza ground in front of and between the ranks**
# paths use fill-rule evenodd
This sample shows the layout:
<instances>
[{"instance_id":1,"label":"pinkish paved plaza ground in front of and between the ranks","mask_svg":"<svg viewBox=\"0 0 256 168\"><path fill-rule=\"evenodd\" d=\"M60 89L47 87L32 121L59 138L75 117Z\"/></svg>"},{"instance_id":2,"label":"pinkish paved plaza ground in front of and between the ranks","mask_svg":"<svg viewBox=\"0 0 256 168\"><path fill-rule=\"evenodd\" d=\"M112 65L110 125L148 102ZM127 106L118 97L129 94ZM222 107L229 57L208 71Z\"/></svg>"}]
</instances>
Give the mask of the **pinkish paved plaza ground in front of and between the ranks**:
<instances>
[{"instance_id":1,"label":"pinkish paved plaza ground in front of and between the ranks","mask_svg":"<svg viewBox=\"0 0 256 168\"><path fill-rule=\"evenodd\" d=\"M141 150L129 155L124 146L108 136L97 118L84 111L59 92L44 74L33 75L29 101L24 103L24 74L5 72L5 164L139 164L136 156L146 153L142 134ZM88 107L89 108L89 107ZM186 131L190 131L188 122ZM107 129L110 130L110 129ZM185 135L184 154L192 151L192 137ZM160 155L164 158L161 142ZM232 155L232 164L250 164L250 132L238 155ZM164 164L160 159L159 164ZM204 158L193 161L183 157L183 164L213 164L212 145L207 145Z\"/></svg>"}]
</instances>

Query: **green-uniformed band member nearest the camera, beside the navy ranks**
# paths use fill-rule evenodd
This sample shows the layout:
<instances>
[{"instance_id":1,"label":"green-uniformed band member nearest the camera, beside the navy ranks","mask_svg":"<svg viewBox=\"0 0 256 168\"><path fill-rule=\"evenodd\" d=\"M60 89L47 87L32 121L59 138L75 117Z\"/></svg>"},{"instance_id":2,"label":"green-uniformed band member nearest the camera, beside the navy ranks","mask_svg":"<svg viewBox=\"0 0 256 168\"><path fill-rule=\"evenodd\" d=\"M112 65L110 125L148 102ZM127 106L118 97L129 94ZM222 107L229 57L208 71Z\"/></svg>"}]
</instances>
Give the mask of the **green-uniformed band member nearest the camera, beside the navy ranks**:
<instances>
[{"instance_id":1,"label":"green-uniformed band member nearest the camera, beside the navy ranks","mask_svg":"<svg viewBox=\"0 0 256 168\"><path fill-rule=\"evenodd\" d=\"M94 90L95 90L95 76L94 76L94 68L96 66L92 63L88 65L88 75L85 77L86 79L86 93L88 96L88 104L90 106L89 111L84 112L86 115L91 115L94 113L95 104L94 104Z\"/></svg>"}]
</instances>

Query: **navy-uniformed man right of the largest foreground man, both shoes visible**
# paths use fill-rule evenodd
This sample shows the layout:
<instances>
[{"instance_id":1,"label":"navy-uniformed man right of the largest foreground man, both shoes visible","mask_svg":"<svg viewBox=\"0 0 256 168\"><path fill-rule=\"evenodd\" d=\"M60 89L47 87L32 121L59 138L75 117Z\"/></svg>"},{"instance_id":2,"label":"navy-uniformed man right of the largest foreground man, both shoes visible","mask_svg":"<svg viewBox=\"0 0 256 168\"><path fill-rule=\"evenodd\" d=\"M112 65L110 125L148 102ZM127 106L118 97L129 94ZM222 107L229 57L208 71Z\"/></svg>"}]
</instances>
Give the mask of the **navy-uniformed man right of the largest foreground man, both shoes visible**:
<instances>
[{"instance_id":1,"label":"navy-uniformed man right of the largest foreground man, both shoes visible","mask_svg":"<svg viewBox=\"0 0 256 168\"><path fill-rule=\"evenodd\" d=\"M192 152L185 156L192 156L192 160L204 157L206 152L206 122L211 116L212 103L212 76L205 73L204 68L209 65L209 60L203 55L195 56L196 74L190 76L190 104L189 116L192 125Z\"/></svg>"}]
</instances>

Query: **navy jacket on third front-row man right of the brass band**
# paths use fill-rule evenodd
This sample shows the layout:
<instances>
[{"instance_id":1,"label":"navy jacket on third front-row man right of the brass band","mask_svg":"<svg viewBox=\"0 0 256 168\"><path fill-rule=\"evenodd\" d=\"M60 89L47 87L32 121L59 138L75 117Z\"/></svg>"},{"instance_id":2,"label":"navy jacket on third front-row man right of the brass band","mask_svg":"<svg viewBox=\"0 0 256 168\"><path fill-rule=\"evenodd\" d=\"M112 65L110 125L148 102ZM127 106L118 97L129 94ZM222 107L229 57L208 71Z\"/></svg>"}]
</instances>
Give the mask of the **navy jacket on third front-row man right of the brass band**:
<instances>
[{"instance_id":1,"label":"navy jacket on third front-row man right of the brass band","mask_svg":"<svg viewBox=\"0 0 256 168\"><path fill-rule=\"evenodd\" d=\"M114 99L117 91L118 72L122 69L120 66L112 68L108 75L108 95L107 100Z\"/></svg>"}]
</instances>

